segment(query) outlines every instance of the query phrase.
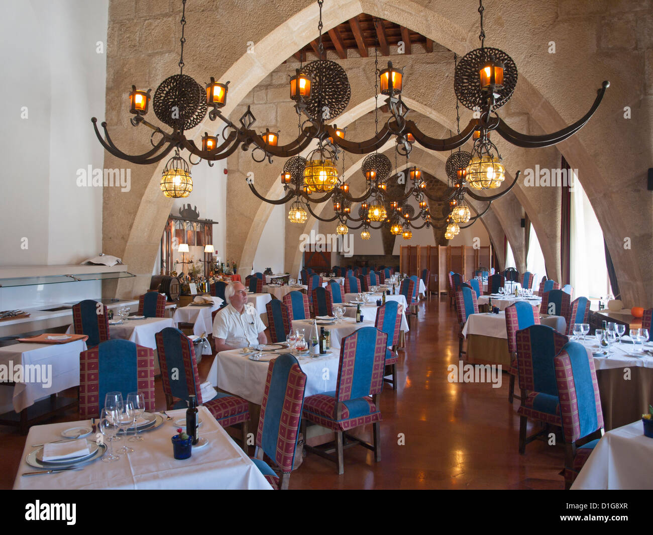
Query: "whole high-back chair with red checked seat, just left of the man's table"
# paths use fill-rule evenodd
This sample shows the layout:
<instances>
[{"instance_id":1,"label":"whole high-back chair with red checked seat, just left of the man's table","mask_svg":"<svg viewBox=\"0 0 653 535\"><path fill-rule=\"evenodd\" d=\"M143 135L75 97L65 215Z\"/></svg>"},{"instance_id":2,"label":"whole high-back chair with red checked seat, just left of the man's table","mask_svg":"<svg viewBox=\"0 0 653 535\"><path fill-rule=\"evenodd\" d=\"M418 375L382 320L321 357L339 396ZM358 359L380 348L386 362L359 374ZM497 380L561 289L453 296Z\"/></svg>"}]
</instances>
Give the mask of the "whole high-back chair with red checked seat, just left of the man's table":
<instances>
[{"instance_id":1,"label":"whole high-back chair with red checked seat, just left of the man's table","mask_svg":"<svg viewBox=\"0 0 653 535\"><path fill-rule=\"evenodd\" d=\"M247 450L249 402L225 393L203 399L193 341L174 327L157 332L155 339L167 410L185 408L189 396L195 395L198 406L204 405L222 427L242 425L242 446Z\"/></svg>"}]
</instances>

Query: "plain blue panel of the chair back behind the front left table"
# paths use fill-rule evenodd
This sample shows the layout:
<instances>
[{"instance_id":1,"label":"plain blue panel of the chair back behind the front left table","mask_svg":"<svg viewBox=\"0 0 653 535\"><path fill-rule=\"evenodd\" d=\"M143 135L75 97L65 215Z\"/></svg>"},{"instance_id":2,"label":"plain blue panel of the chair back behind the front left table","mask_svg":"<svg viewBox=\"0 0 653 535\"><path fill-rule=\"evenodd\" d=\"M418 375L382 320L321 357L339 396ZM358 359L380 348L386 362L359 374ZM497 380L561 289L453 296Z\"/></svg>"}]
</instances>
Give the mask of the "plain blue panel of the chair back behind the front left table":
<instances>
[{"instance_id":1,"label":"plain blue panel of the chair back behind the front left table","mask_svg":"<svg viewBox=\"0 0 653 535\"><path fill-rule=\"evenodd\" d=\"M152 292L157 293L157 292ZM138 391L136 344L129 340L106 340L98 349L98 406L104 408L107 392L127 394Z\"/></svg>"}]
</instances>

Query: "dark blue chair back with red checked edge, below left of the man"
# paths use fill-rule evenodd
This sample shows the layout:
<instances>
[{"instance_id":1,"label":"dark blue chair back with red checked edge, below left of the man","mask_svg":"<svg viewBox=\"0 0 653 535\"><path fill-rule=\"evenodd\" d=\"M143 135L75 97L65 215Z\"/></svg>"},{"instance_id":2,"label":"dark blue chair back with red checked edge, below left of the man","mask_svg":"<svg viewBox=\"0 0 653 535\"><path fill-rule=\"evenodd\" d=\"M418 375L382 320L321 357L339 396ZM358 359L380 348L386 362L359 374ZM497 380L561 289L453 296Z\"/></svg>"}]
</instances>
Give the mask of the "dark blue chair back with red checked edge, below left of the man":
<instances>
[{"instance_id":1,"label":"dark blue chair back with red checked edge, below left of the man","mask_svg":"<svg viewBox=\"0 0 653 535\"><path fill-rule=\"evenodd\" d=\"M197 395L199 388L199 378L194 373L194 370L197 370L197 361L195 366L189 362L191 355L195 355L193 342L174 327L166 327L157 332L155 338L161 373L163 374L165 370L166 374L165 378L161 379L164 386L170 389L172 396L182 400L177 402L174 408L184 408L187 406L185 402L190 400L189 396ZM165 364L162 362L162 357Z\"/></svg>"}]
</instances>

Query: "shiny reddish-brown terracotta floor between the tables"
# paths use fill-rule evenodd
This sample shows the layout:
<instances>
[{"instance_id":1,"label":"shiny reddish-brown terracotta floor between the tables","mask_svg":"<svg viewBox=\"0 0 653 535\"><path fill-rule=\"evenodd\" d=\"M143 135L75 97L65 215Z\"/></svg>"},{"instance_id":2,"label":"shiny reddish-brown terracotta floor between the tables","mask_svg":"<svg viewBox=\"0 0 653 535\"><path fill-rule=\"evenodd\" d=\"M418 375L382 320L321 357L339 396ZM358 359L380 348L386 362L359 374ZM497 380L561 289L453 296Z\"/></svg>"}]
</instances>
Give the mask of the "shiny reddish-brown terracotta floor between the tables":
<instances>
[{"instance_id":1,"label":"shiny reddish-brown terracotta floor between the tables","mask_svg":"<svg viewBox=\"0 0 653 535\"><path fill-rule=\"evenodd\" d=\"M496 389L447 381L447 366L458 363L457 331L445 297L422 302L400 351L398 390L385 387L381 394L382 461L352 447L338 476L335 464L308 455L293 472L291 489L563 489L562 445L535 441L518 454L518 401L507 401L507 374ZM211 362L200 363L202 379ZM165 408L160 380L156 397L157 408ZM71 413L59 421L75 419ZM24 436L0 426L0 488L12 487L24 444Z\"/></svg>"}]
</instances>

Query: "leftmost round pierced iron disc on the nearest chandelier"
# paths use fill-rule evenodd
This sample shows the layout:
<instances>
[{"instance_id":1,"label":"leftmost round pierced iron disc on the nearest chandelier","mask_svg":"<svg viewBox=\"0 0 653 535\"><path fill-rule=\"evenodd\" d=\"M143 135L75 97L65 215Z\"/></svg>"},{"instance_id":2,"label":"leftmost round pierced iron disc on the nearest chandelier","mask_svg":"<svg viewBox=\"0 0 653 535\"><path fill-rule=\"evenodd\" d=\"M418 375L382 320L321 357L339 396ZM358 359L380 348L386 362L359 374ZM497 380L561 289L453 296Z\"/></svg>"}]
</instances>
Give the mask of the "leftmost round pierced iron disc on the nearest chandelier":
<instances>
[{"instance_id":1,"label":"leftmost round pierced iron disc on the nearest chandelier","mask_svg":"<svg viewBox=\"0 0 653 535\"><path fill-rule=\"evenodd\" d=\"M175 130L189 130L206 115L206 92L190 76L174 74L161 82L152 105L159 121Z\"/></svg>"}]
</instances>

